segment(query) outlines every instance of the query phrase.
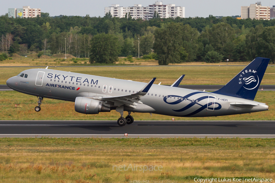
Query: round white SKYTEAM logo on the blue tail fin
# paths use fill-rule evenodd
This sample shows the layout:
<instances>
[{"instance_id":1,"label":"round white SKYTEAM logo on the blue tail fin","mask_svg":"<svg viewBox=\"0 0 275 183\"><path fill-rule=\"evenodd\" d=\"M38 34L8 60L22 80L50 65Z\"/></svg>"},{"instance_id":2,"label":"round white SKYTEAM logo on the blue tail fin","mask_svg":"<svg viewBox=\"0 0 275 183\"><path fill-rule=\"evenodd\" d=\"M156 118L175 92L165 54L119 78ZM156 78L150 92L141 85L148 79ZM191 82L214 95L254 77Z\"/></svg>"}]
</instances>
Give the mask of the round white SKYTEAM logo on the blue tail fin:
<instances>
[{"instance_id":1,"label":"round white SKYTEAM logo on the blue tail fin","mask_svg":"<svg viewBox=\"0 0 275 183\"><path fill-rule=\"evenodd\" d=\"M257 75L256 76L252 75L253 73L256 74L257 71L249 69L241 72L239 76L239 84L243 84L243 87L245 89L253 90L258 86L259 77Z\"/></svg>"}]
</instances>

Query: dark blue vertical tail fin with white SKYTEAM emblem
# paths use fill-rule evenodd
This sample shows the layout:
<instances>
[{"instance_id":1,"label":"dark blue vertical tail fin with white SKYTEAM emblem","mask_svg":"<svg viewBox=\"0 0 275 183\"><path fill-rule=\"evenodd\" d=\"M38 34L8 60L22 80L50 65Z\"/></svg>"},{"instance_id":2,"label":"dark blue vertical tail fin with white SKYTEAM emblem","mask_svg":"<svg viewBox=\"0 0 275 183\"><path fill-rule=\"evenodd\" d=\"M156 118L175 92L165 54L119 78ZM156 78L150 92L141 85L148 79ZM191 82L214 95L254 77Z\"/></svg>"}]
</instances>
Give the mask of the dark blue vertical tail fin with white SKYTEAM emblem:
<instances>
[{"instance_id":1,"label":"dark blue vertical tail fin with white SKYTEAM emblem","mask_svg":"<svg viewBox=\"0 0 275 183\"><path fill-rule=\"evenodd\" d=\"M218 91L212 93L254 100L270 59L257 57Z\"/></svg>"}]
</instances>

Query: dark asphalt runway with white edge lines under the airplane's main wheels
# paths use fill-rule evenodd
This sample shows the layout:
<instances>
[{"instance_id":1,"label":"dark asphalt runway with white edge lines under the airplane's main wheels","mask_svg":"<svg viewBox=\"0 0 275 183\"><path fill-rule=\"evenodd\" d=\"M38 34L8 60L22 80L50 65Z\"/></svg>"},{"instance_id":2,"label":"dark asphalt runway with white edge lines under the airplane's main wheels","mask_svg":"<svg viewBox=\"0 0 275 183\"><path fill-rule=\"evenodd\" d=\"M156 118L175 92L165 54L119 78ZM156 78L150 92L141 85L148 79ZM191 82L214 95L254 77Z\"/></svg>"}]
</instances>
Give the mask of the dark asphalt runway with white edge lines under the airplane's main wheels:
<instances>
[{"instance_id":1,"label":"dark asphalt runway with white edge lines under the airplane's main wheels","mask_svg":"<svg viewBox=\"0 0 275 183\"><path fill-rule=\"evenodd\" d=\"M0 137L20 138L275 138L274 129L275 121L0 121Z\"/></svg>"}]
</instances>

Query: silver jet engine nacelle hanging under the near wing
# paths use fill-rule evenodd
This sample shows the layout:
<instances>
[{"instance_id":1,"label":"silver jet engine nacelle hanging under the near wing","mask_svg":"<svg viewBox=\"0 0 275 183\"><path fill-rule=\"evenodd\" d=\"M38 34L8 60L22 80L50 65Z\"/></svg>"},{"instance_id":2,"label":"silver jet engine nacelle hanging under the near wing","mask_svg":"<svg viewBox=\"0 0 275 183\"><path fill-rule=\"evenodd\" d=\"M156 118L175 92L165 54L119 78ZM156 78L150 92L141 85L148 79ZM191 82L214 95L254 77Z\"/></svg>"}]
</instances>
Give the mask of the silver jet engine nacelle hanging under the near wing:
<instances>
[{"instance_id":1,"label":"silver jet engine nacelle hanging under the near wing","mask_svg":"<svg viewBox=\"0 0 275 183\"><path fill-rule=\"evenodd\" d=\"M83 114L98 114L99 112L110 112L110 107L102 105L101 102L85 97L75 98L75 111Z\"/></svg>"}]
</instances>

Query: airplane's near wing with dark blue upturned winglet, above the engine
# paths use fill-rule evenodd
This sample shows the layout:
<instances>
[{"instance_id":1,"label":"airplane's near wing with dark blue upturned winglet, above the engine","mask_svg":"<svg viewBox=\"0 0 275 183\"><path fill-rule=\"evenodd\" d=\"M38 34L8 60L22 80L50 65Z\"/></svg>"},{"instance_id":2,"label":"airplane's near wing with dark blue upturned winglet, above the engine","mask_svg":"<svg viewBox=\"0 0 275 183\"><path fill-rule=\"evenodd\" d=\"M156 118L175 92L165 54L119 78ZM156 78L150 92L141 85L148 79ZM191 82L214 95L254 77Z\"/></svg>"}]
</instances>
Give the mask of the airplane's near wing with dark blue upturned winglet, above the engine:
<instances>
[{"instance_id":1,"label":"airplane's near wing with dark blue upturned winglet, above the engine","mask_svg":"<svg viewBox=\"0 0 275 183\"><path fill-rule=\"evenodd\" d=\"M140 98L146 95L146 93L149 91L149 89L151 88L155 80L156 80L156 77L154 77L149 83L147 83L140 91L131 95L105 96L105 97L94 96L91 98L96 100L111 101L111 102L114 102L115 106L125 105L132 108L136 108L135 106L137 106L138 103L142 104L142 102L140 101Z\"/></svg>"}]
</instances>

